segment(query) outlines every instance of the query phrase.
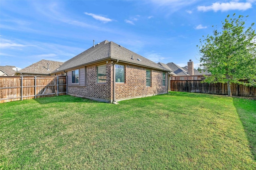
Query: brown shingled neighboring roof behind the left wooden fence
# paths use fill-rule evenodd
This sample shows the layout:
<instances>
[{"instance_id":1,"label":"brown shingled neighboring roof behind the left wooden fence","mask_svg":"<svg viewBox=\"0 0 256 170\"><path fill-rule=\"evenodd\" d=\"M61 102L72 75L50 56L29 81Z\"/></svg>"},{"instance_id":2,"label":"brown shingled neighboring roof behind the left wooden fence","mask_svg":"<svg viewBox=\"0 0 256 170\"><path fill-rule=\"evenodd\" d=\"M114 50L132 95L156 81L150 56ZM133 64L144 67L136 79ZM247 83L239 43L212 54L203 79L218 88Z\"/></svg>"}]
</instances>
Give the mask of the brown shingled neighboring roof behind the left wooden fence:
<instances>
[{"instance_id":1,"label":"brown shingled neighboring roof behind the left wooden fence","mask_svg":"<svg viewBox=\"0 0 256 170\"><path fill-rule=\"evenodd\" d=\"M15 75L30 75L30 76L40 76L40 75L50 75L55 71L63 62L50 61L42 59L20 71L17 71Z\"/></svg>"}]
</instances>

